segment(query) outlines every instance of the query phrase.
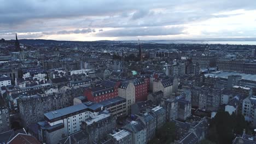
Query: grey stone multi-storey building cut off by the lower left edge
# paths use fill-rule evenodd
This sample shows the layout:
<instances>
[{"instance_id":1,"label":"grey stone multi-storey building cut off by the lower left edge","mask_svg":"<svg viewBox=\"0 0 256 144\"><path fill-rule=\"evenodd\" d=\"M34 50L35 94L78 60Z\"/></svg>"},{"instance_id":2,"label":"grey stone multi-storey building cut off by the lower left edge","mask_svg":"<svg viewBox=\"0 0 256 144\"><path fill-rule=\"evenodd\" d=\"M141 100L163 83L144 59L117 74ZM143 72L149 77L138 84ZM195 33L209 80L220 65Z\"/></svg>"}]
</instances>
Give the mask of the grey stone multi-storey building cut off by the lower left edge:
<instances>
[{"instance_id":1,"label":"grey stone multi-storey building cut off by the lower left edge","mask_svg":"<svg viewBox=\"0 0 256 144\"><path fill-rule=\"evenodd\" d=\"M9 111L6 106L0 106L0 133L10 130Z\"/></svg>"}]
</instances>

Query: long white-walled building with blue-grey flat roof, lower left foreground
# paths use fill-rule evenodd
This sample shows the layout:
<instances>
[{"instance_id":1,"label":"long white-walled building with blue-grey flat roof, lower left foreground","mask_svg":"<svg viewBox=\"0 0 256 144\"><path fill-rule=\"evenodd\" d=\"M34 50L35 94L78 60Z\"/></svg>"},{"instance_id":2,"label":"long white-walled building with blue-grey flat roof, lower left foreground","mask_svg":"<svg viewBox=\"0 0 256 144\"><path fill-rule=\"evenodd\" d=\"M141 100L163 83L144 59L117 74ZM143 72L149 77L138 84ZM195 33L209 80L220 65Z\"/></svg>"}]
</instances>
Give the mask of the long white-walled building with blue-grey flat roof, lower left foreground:
<instances>
[{"instance_id":1,"label":"long white-walled building with blue-grey flat roof, lower left foreground","mask_svg":"<svg viewBox=\"0 0 256 144\"><path fill-rule=\"evenodd\" d=\"M69 136L82 129L82 122L95 118L101 106L78 104L44 113L44 121L38 122L39 141L57 143L63 136Z\"/></svg>"}]
</instances>

